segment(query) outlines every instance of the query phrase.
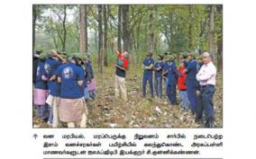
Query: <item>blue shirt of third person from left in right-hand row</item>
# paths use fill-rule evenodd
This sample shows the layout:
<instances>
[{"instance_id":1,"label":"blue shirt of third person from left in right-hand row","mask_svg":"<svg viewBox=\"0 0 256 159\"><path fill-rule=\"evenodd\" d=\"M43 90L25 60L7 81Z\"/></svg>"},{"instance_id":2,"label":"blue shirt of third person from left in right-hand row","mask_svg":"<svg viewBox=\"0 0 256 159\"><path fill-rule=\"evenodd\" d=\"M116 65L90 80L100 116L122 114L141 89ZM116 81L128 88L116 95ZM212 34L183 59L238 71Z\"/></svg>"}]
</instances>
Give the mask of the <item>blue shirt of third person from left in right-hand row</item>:
<instances>
[{"instance_id":1,"label":"blue shirt of third person from left in right-hand row","mask_svg":"<svg viewBox=\"0 0 256 159\"><path fill-rule=\"evenodd\" d=\"M167 70L168 84L177 84L178 70L175 62L166 62L164 70Z\"/></svg>"}]
</instances>

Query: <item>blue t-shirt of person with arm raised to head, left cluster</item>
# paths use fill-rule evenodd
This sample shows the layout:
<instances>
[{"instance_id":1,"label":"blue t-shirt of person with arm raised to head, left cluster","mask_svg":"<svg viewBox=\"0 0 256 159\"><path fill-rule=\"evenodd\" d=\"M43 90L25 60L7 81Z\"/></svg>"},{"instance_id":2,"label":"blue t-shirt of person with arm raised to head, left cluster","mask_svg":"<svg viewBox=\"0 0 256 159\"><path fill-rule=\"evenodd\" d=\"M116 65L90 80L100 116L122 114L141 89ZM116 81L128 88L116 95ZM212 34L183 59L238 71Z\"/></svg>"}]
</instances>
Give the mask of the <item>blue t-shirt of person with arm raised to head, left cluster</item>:
<instances>
[{"instance_id":1,"label":"blue t-shirt of person with arm raised to head, left cluster","mask_svg":"<svg viewBox=\"0 0 256 159\"><path fill-rule=\"evenodd\" d=\"M59 66L61 66L61 61L53 58L48 58L44 62L44 74L47 76L48 88L50 90L50 94L53 96L59 96L59 84L57 80L50 81L50 77L54 75L55 71Z\"/></svg>"}]
</instances>

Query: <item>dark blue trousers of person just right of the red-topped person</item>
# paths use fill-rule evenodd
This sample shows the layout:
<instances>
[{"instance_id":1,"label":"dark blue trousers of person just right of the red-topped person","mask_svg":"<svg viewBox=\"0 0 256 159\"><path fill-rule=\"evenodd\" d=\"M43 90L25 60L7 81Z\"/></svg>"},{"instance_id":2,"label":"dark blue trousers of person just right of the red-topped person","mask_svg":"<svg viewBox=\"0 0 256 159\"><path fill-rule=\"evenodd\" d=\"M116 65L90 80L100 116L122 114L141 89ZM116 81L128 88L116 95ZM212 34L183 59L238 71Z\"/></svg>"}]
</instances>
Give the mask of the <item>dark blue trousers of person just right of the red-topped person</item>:
<instances>
[{"instance_id":1,"label":"dark blue trousers of person just right of the red-topped person","mask_svg":"<svg viewBox=\"0 0 256 159\"><path fill-rule=\"evenodd\" d=\"M187 98L190 103L192 113L196 113L197 110L197 90L196 82L187 82Z\"/></svg>"}]
</instances>

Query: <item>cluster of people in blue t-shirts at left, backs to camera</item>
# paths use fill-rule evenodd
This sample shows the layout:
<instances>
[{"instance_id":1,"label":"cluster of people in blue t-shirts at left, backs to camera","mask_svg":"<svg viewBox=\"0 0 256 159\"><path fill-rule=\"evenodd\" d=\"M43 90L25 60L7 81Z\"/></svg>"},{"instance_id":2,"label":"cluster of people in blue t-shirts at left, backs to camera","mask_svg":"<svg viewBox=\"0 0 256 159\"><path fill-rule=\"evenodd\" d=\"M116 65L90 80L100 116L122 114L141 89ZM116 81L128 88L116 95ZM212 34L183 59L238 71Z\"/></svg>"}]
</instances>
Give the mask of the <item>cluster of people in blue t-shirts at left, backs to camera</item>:
<instances>
[{"instance_id":1,"label":"cluster of people in blue t-shirts at left, backs to camera","mask_svg":"<svg viewBox=\"0 0 256 159\"><path fill-rule=\"evenodd\" d=\"M86 128L88 100L96 98L96 81L87 54L57 50L41 53L34 81L33 102L38 117L59 128Z\"/></svg>"}]
</instances>

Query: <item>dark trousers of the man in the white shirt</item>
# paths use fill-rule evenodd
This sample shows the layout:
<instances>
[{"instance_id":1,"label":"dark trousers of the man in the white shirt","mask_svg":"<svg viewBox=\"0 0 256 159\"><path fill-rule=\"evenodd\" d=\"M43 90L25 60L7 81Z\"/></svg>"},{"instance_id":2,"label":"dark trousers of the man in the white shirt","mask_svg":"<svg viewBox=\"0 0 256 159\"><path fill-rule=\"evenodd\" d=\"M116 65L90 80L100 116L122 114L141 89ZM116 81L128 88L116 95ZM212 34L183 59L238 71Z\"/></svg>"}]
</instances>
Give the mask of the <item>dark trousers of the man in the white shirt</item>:
<instances>
[{"instance_id":1,"label":"dark trousers of the man in the white shirt","mask_svg":"<svg viewBox=\"0 0 256 159\"><path fill-rule=\"evenodd\" d=\"M200 95L198 96L197 105L197 119L202 119L203 111L205 111L206 122L209 119L214 119L214 94L215 85L206 85L200 88Z\"/></svg>"}]
</instances>

